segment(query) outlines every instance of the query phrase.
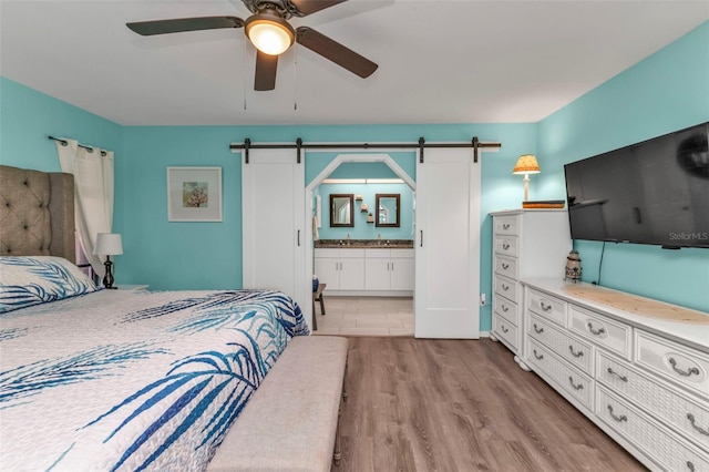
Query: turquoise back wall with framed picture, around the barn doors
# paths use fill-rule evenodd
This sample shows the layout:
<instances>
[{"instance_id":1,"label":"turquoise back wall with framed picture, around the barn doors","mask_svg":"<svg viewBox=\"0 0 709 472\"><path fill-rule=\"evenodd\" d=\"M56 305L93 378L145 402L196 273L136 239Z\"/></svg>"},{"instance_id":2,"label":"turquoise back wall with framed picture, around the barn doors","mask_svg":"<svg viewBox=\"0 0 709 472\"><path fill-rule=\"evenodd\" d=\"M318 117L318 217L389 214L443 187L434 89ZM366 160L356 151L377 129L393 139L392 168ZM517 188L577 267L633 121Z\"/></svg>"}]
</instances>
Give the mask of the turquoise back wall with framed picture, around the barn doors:
<instances>
[{"instance_id":1,"label":"turquoise back wall with framed picture, around the barn doors","mask_svg":"<svg viewBox=\"0 0 709 472\"><path fill-rule=\"evenodd\" d=\"M535 152L534 124L127 126L124 129L126 176L116 205L130 214L123 237L132 242L134 249L122 256L121 277L129 284L150 284L153 289L242 286L242 177L238 154L228 150L233 142L240 143L246 137L251 142L295 142L298 137L304 142L374 142L374 137L380 142L415 142L419 136L425 136L427 141L458 142L479 136L503 143L500 152L484 153L481 161L482 214L485 215L481 220L481 291L491 299L492 222L486 215L520 206L522 182L511 171L520 154ZM338 154L342 153L306 153L306 182L311 182ZM413 153L388 154L407 174L415 176ZM174 165L223 167L223 223L167 222L165 167ZM360 176L352 172L348 175ZM323 202L327 202L325 197ZM481 330L490 327L491 307L482 307Z\"/></svg>"}]
</instances>

